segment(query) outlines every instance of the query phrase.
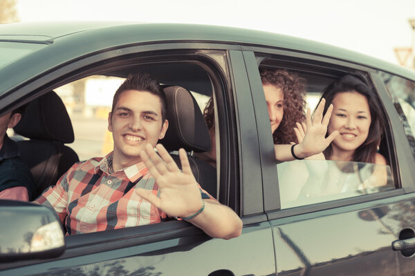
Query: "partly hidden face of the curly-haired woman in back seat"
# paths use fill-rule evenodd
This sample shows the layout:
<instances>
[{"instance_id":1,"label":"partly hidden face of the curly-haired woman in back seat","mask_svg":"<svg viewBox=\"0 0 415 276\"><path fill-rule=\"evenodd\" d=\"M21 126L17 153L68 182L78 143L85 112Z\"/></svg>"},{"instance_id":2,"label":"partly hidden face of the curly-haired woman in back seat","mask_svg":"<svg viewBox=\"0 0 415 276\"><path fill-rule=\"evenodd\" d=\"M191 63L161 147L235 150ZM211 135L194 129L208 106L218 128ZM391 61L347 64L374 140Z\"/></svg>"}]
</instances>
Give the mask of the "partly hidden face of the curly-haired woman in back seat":
<instances>
[{"instance_id":1,"label":"partly hidden face of the curly-haired woman in back seat","mask_svg":"<svg viewBox=\"0 0 415 276\"><path fill-rule=\"evenodd\" d=\"M284 116L284 93L281 88L273 86L272 84L264 84L263 88L266 105L268 107L268 115L270 117L271 130L274 133Z\"/></svg>"}]
</instances>

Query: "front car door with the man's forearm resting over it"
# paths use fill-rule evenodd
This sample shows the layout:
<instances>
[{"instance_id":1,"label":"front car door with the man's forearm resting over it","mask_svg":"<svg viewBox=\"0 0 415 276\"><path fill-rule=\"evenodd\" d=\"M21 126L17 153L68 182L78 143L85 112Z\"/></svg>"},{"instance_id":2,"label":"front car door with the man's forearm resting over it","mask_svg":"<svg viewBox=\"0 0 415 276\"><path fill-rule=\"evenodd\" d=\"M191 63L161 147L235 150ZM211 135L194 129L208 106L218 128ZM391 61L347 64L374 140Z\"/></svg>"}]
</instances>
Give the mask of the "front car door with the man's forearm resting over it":
<instances>
[{"instance_id":1,"label":"front car door with the man's forearm resting over it","mask_svg":"<svg viewBox=\"0 0 415 276\"><path fill-rule=\"evenodd\" d=\"M102 39L105 37L102 34ZM75 43L74 39L71 43ZM95 52L95 46L91 45L86 46L91 49L88 55L83 52L75 56L71 48L53 43L47 47L53 47L54 52L65 52L68 59L65 65L48 68L47 72L39 69L39 76L13 88L14 92L9 93L6 99L14 104L21 99L30 101L83 76L110 72L111 66L118 70L123 66L129 68L131 64L151 68L151 61L154 64L165 61L168 61L166 64L198 64L212 80L210 88L215 88L218 102L219 200L242 217L242 235L228 241L212 239L186 221L75 235L65 237L63 255L5 262L0 264L0 275L275 274L273 235L264 214L259 141L257 132L252 132L255 116L243 56L234 45L204 43L203 48L200 46L198 43L157 43L155 51L147 41L145 46L122 46ZM48 57L46 50L41 54L44 56L36 58ZM68 58L72 54L74 56ZM24 63L22 60L19 62Z\"/></svg>"}]
</instances>

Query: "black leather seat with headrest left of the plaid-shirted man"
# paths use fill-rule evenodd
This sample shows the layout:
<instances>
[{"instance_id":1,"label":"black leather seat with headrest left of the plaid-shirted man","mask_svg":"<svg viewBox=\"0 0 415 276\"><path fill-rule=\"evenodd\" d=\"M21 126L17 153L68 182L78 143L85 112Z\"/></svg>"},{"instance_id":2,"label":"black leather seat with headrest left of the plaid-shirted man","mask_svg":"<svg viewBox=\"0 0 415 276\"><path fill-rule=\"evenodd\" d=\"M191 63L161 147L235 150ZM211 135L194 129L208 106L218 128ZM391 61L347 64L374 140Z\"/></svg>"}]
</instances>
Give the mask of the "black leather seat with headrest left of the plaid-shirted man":
<instances>
[{"instance_id":1,"label":"black leather seat with headrest left of the plaid-shirted man","mask_svg":"<svg viewBox=\"0 0 415 276\"><path fill-rule=\"evenodd\" d=\"M14 129L30 139L17 145L33 173L36 196L79 161L76 152L64 145L73 142L73 128L62 99L53 91L31 101Z\"/></svg>"}]
</instances>

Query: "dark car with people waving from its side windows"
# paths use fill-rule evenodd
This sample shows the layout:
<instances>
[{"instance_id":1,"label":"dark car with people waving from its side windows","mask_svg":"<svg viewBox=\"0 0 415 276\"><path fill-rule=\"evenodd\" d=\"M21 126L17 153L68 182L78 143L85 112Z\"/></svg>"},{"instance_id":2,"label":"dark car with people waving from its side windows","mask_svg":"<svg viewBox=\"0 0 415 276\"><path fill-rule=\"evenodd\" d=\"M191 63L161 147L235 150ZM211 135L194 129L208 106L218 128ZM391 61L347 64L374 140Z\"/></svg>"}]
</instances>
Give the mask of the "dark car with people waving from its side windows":
<instances>
[{"instance_id":1,"label":"dark car with people waving from its side windows","mask_svg":"<svg viewBox=\"0 0 415 276\"><path fill-rule=\"evenodd\" d=\"M389 185L311 201L282 197L304 166L275 160L260 68L304 77L310 106L331 81L347 73L365 78L385 113L379 152L387 159ZM0 200L0 275L414 275L414 71L239 28L4 24L0 115L28 105L12 137L35 176L37 195L75 161L111 150L111 97L132 72L188 91L190 101L178 109L197 113L199 121L190 126L201 132L205 103L214 99L216 170L213 180L201 175L200 182L241 217L242 234L212 239L187 221L171 220L64 236L53 210ZM172 141L174 155L181 144Z\"/></svg>"}]
</instances>

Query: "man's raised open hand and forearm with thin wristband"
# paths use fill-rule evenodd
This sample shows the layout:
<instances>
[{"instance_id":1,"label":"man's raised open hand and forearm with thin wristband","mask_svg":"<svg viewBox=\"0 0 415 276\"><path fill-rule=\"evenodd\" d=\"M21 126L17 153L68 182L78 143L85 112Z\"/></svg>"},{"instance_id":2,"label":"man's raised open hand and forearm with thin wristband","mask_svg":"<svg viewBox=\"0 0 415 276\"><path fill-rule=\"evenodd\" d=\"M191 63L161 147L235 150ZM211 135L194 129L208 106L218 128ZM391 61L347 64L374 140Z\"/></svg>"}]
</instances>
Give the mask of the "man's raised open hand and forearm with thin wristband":
<instances>
[{"instance_id":1,"label":"man's raised open hand and forearm with thin wristband","mask_svg":"<svg viewBox=\"0 0 415 276\"><path fill-rule=\"evenodd\" d=\"M140 157L156 179L159 194L156 196L151 190L142 188L136 189L136 193L171 217L187 218L211 237L231 239L241 235L242 221L232 209L214 199L205 199L203 204L185 150L179 150L181 171L162 145L158 144L156 148L160 156L148 144Z\"/></svg>"}]
</instances>

